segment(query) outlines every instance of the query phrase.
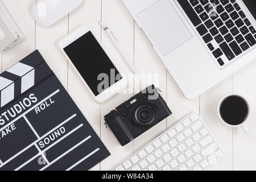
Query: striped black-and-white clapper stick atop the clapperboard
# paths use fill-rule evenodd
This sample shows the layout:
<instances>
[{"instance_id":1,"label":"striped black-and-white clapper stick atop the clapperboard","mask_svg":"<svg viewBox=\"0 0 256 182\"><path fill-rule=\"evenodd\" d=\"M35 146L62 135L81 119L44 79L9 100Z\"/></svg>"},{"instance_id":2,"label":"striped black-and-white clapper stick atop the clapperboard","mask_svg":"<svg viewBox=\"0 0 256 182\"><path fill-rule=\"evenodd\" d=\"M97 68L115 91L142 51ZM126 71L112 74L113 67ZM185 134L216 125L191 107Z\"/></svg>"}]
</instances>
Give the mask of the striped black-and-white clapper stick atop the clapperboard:
<instances>
[{"instance_id":1,"label":"striped black-and-white clapper stick atop the clapperboard","mask_svg":"<svg viewBox=\"0 0 256 182\"><path fill-rule=\"evenodd\" d=\"M51 69L38 51L31 53L0 75L0 107L13 101L39 81L46 78ZM35 59L33 59L35 58ZM42 71L44 74L42 74ZM39 74L36 77L36 72Z\"/></svg>"}]
</instances>

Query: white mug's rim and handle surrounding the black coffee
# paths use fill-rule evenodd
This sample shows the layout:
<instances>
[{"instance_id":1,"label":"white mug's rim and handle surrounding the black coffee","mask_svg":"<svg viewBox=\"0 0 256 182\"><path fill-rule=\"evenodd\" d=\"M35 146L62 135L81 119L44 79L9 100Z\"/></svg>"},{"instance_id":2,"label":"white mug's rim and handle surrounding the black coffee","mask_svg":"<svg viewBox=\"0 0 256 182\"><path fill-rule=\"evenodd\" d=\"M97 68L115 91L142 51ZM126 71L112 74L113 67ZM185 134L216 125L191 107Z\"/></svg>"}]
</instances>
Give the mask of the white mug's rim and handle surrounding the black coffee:
<instances>
[{"instance_id":1,"label":"white mug's rim and handle surrounding the black coffee","mask_svg":"<svg viewBox=\"0 0 256 182\"><path fill-rule=\"evenodd\" d=\"M221 107L221 104L224 100L226 100L226 98L230 97L230 96L237 96L237 97L240 97L242 98L245 102L246 102L246 105L247 105L247 108L248 108L248 113L247 113L247 117L245 118L245 120L240 124L240 125L229 125L228 123L226 123L222 117L221 117L221 114L220 114L220 107ZM238 94L230 94L228 96L225 96L222 98L222 100L220 101L220 103L218 104L218 117L220 117L221 121L226 125L226 126L230 126L230 127L241 127L243 129L243 131L245 131L245 133L247 134L249 132L249 128L246 126L246 123L248 122L249 120L249 117L250 117L250 105L249 105L249 102L245 99L245 97L243 96L240 96Z\"/></svg>"}]
</instances>

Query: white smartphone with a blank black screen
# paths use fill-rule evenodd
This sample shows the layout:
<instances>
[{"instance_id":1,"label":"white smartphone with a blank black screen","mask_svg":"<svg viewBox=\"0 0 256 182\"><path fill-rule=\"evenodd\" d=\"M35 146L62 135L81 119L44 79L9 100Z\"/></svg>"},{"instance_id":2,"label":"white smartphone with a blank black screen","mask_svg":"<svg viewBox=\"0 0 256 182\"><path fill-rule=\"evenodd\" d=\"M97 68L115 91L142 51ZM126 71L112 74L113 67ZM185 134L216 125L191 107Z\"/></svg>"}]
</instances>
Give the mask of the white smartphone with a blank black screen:
<instances>
[{"instance_id":1,"label":"white smartphone with a blank black screen","mask_svg":"<svg viewBox=\"0 0 256 182\"><path fill-rule=\"evenodd\" d=\"M61 40L59 47L97 102L108 100L127 86L87 26Z\"/></svg>"}]
</instances>

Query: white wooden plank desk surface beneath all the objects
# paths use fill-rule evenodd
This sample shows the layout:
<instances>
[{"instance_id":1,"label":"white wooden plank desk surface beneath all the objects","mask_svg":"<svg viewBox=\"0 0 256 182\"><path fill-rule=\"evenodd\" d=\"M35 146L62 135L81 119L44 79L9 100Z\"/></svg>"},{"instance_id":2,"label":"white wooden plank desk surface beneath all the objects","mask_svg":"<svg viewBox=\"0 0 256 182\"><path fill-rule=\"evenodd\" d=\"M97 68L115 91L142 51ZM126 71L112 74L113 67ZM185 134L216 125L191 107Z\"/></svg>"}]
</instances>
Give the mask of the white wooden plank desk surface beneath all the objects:
<instances>
[{"instance_id":1,"label":"white wooden plank desk surface beneath all the objects","mask_svg":"<svg viewBox=\"0 0 256 182\"><path fill-rule=\"evenodd\" d=\"M82 6L65 16L49 28L39 27L31 17L32 7L36 0L0 0L9 9L26 36L26 40L0 57L2 72L35 49L39 49L49 67L55 72L61 83L71 94L73 100L88 119L94 130L100 136L112 154L109 158L92 168L93 170L109 170L122 162L133 152L139 150L159 134L174 125L191 111L200 113L221 146L226 157L214 165L212 170L255 170L256 169L256 64L252 61L245 68L214 86L195 100L187 100L175 81L167 72L162 61L156 55L143 31L137 26L121 0L84 0ZM123 73L131 70L113 46L108 35L101 29L103 20L112 28L121 47L125 49L130 60L134 61L139 73L159 73L159 88L173 114L159 125L147 131L125 147L117 142L114 135L104 126L104 115L129 99L133 94L119 94L112 100L97 104L88 89L82 84L75 71L68 64L58 48L58 42L76 30L82 24L87 24L112 57L115 65ZM178 60L177 60L178 61ZM222 125L217 115L218 102L226 94L240 93L249 98L251 117L250 133L241 129L231 129ZM135 93L134 93L135 94Z\"/></svg>"}]
</instances>

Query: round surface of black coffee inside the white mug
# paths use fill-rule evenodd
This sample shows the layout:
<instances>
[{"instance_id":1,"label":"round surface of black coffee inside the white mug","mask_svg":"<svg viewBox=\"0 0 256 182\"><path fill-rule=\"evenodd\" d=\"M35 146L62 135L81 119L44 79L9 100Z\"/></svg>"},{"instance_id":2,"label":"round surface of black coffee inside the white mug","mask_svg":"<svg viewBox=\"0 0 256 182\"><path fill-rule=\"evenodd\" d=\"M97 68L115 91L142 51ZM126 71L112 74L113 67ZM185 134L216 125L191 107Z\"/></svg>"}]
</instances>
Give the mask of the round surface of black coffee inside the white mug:
<instances>
[{"instance_id":1,"label":"round surface of black coffee inside the white mug","mask_svg":"<svg viewBox=\"0 0 256 182\"><path fill-rule=\"evenodd\" d=\"M240 125L247 118L248 106L243 98L229 96L222 101L220 114L229 125Z\"/></svg>"}]
</instances>

